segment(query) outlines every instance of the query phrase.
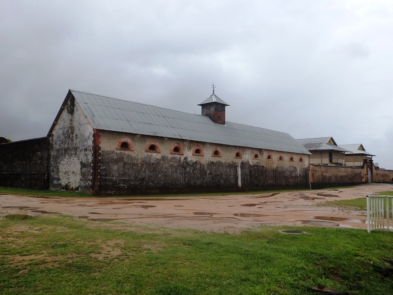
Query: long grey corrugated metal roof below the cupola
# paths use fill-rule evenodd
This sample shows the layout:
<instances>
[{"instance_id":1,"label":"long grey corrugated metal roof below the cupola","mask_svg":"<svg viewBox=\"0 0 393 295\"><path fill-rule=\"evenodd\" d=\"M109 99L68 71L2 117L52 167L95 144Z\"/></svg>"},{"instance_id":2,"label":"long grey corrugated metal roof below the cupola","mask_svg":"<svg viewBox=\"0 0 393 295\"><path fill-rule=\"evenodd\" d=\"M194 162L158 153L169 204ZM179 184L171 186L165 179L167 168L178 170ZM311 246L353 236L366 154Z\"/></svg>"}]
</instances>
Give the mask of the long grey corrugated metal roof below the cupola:
<instances>
[{"instance_id":1,"label":"long grey corrugated metal roof below the cupola","mask_svg":"<svg viewBox=\"0 0 393 295\"><path fill-rule=\"evenodd\" d=\"M310 154L288 133L70 90L93 128L230 146Z\"/></svg>"}]
</instances>

